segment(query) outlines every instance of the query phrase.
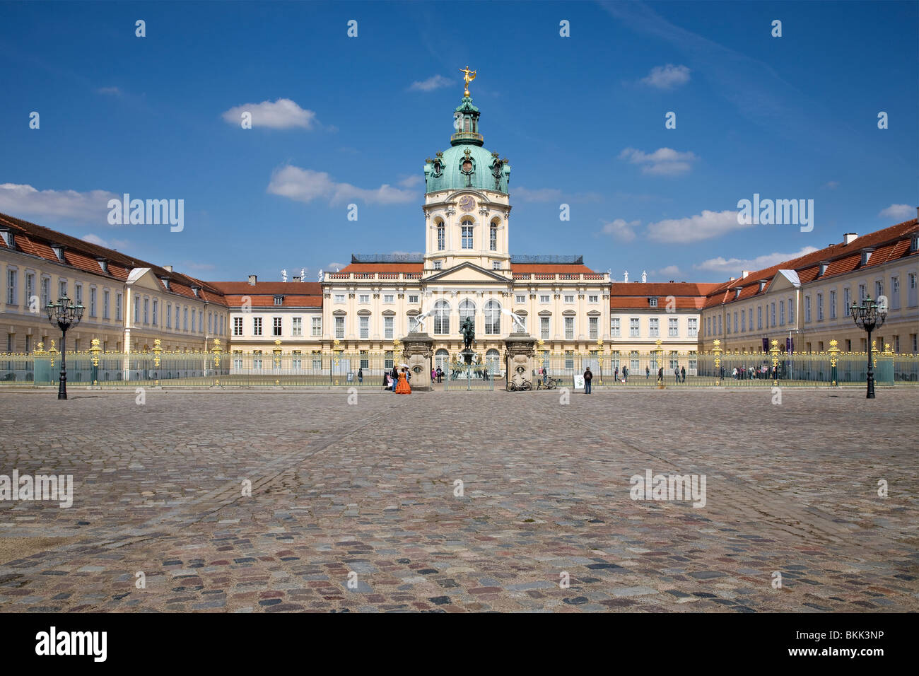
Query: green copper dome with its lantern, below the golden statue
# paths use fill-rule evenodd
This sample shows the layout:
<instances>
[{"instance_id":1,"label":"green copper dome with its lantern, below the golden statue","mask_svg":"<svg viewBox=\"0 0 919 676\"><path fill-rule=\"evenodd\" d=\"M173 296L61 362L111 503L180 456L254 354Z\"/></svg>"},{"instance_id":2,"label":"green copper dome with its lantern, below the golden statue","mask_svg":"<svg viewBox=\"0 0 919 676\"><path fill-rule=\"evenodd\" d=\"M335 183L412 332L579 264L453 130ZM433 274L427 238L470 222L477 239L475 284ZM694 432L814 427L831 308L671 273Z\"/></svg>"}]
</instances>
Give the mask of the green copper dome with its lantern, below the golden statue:
<instances>
[{"instance_id":1,"label":"green copper dome with its lantern, below the golden statue","mask_svg":"<svg viewBox=\"0 0 919 676\"><path fill-rule=\"evenodd\" d=\"M463 97L453 116L457 132L450 137L450 147L425 160L425 192L471 188L507 194L510 163L482 147L479 109L471 97Z\"/></svg>"}]
</instances>

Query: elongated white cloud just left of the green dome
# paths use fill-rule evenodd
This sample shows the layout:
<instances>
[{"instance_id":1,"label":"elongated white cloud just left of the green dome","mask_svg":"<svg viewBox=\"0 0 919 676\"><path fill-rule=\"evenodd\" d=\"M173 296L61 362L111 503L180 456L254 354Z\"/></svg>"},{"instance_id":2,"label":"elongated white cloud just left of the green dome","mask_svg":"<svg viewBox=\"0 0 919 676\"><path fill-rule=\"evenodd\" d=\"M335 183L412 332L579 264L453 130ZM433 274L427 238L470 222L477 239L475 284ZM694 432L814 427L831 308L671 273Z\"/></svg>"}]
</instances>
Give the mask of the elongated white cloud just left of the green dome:
<instances>
[{"instance_id":1,"label":"elongated white cloud just left of the green dome","mask_svg":"<svg viewBox=\"0 0 919 676\"><path fill-rule=\"evenodd\" d=\"M271 174L267 191L290 200L311 202L327 200L340 204L349 200L362 200L374 204L402 204L418 199L414 190L393 188L384 183L380 188L364 189L350 183L336 183L324 171L301 169L299 166L282 166Z\"/></svg>"}]
</instances>

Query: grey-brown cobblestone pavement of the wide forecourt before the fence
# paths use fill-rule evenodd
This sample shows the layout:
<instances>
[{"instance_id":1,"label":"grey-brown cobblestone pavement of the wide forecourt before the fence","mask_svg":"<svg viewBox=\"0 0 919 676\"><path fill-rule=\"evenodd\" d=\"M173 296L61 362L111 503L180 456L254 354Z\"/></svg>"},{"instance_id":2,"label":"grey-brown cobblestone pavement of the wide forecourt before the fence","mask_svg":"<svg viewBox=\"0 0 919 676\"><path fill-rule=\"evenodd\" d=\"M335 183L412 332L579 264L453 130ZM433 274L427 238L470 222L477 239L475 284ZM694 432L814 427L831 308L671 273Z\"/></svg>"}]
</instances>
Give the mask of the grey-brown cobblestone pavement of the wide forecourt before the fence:
<instances>
[{"instance_id":1,"label":"grey-brown cobblestone pavement of the wide forecourt before the fence","mask_svg":"<svg viewBox=\"0 0 919 676\"><path fill-rule=\"evenodd\" d=\"M919 610L919 392L561 395L0 393L0 609Z\"/></svg>"}]
</instances>

